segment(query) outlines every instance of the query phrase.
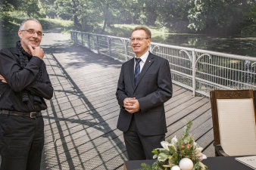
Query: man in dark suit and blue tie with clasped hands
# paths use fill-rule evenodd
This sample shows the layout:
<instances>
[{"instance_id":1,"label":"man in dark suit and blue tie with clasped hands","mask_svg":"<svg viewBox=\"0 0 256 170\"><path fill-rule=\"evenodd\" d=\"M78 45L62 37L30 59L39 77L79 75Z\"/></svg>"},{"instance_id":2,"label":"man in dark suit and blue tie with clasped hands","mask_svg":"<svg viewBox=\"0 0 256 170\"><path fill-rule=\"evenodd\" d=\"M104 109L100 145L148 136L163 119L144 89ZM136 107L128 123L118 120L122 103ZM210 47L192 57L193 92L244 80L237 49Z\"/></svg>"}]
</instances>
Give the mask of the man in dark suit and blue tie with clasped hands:
<instances>
[{"instance_id":1,"label":"man in dark suit and blue tie with clasped hands","mask_svg":"<svg viewBox=\"0 0 256 170\"><path fill-rule=\"evenodd\" d=\"M149 29L133 29L131 48L136 57L123 63L117 84L117 128L123 131L130 160L152 159L151 151L161 147L167 132L164 102L173 94L170 66L148 51L150 42Z\"/></svg>"}]
</instances>

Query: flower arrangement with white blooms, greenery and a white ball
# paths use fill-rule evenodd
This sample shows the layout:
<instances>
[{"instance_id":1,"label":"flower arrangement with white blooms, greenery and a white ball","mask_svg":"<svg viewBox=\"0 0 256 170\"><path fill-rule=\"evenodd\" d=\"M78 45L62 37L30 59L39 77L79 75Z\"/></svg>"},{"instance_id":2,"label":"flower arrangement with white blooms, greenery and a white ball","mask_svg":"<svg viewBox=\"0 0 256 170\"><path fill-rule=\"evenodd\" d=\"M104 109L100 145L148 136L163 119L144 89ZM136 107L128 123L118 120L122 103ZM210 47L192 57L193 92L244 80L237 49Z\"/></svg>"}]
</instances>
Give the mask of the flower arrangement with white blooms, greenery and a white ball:
<instances>
[{"instance_id":1,"label":"flower arrangement with white blooms, greenery and a white ball","mask_svg":"<svg viewBox=\"0 0 256 170\"><path fill-rule=\"evenodd\" d=\"M201 153L202 147L198 147L194 138L189 135L189 129L192 122L186 125L186 130L181 138L172 138L162 141L163 148L157 148L152 151L155 153L153 159L157 161L153 165L142 164L141 170L206 170L208 167L201 160L206 156Z\"/></svg>"}]
</instances>

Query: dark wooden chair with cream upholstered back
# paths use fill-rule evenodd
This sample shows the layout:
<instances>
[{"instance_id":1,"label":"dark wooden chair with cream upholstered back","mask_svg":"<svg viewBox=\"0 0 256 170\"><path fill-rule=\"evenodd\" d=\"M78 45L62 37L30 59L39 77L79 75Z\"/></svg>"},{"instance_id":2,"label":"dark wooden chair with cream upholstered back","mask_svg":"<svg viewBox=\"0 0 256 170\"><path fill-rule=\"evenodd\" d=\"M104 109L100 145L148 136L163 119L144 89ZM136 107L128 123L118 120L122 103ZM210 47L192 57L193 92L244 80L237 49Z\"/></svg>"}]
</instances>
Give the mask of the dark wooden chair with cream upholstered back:
<instances>
[{"instance_id":1,"label":"dark wooden chair with cream upholstered back","mask_svg":"<svg viewBox=\"0 0 256 170\"><path fill-rule=\"evenodd\" d=\"M253 90L211 91L216 156L256 155L254 96Z\"/></svg>"}]
</instances>

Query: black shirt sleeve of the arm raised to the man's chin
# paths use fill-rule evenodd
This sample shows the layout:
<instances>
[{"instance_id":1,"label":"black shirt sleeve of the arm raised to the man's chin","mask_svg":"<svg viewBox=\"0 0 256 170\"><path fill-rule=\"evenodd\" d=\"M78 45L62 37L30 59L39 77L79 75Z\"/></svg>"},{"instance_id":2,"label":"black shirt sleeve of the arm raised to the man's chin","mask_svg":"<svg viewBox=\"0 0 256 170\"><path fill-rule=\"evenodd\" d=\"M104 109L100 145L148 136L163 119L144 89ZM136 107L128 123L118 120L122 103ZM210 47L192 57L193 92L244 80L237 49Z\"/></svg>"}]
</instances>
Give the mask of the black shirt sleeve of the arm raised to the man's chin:
<instances>
[{"instance_id":1,"label":"black shirt sleeve of the arm raised to the man's chin","mask_svg":"<svg viewBox=\"0 0 256 170\"><path fill-rule=\"evenodd\" d=\"M10 51L0 52L0 74L5 78L13 91L23 91L36 78L42 60L32 57L27 66L20 69L17 59Z\"/></svg>"}]
</instances>

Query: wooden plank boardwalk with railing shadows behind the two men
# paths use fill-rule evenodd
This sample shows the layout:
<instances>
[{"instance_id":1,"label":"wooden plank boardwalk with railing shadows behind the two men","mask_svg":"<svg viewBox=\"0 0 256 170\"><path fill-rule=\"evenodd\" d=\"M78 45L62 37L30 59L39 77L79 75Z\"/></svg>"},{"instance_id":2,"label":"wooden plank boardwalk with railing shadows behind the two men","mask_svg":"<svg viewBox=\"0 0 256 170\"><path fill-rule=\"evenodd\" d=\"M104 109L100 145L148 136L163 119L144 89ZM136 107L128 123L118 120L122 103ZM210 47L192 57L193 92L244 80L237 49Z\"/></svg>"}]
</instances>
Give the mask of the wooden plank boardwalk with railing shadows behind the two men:
<instances>
[{"instance_id":1,"label":"wooden plank boardwalk with railing shadows behind the two men","mask_svg":"<svg viewBox=\"0 0 256 170\"><path fill-rule=\"evenodd\" d=\"M42 169L123 169L127 159L122 132L117 126L119 106L115 97L121 63L72 43L60 33L46 33L42 40L45 63L55 88L48 100ZM191 134L214 156L211 104L208 97L193 97L173 85L165 104L167 138L182 134L193 121Z\"/></svg>"}]
</instances>

